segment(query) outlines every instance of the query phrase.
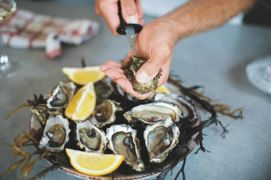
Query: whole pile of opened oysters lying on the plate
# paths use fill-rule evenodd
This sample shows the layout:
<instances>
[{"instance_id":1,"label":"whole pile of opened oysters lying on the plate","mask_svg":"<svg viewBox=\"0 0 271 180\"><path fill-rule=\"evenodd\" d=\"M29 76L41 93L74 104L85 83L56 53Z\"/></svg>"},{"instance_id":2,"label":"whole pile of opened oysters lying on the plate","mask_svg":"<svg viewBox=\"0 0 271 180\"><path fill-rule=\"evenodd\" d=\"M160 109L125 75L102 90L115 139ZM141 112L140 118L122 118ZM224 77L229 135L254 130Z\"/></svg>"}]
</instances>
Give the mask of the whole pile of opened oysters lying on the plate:
<instances>
[{"instance_id":1,"label":"whole pile of opened oysters lying on the plate","mask_svg":"<svg viewBox=\"0 0 271 180\"><path fill-rule=\"evenodd\" d=\"M61 82L49 93L47 104L31 109L45 127L40 149L123 155L124 166L141 172L148 164L165 161L179 142L182 121L200 118L192 101L181 96L162 93L133 101L124 99L110 83L94 86L99 99L89 119L73 121L63 113L79 89L73 82Z\"/></svg>"}]
</instances>

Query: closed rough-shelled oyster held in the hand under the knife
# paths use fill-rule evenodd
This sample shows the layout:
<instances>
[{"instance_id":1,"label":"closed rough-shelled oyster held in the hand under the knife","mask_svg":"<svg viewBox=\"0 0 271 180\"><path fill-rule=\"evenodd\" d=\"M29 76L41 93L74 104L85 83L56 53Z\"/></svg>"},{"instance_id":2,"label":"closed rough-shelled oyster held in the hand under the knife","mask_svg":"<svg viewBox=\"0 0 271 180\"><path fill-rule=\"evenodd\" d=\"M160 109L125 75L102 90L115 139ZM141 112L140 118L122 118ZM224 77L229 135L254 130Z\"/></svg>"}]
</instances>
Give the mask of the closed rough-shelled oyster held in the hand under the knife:
<instances>
[{"instance_id":1,"label":"closed rough-shelled oyster held in the hand under the knife","mask_svg":"<svg viewBox=\"0 0 271 180\"><path fill-rule=\"evenodd\" d=\"M139 70L139 68L147 62L146 58L143 58L139 55L134 55L130 58L130 61L127 63L129 65L129 72L127 73L127 79L132 83L132 86L136 92L139 92L140 94L147 94L149 92L155 91L155 89L158 87L158 78L162 75L160 72L157 73L157 75L151 79L149 82L146 82L144 84L140 84L136 81L136 72Z\"/></svg>"}]
</instances>

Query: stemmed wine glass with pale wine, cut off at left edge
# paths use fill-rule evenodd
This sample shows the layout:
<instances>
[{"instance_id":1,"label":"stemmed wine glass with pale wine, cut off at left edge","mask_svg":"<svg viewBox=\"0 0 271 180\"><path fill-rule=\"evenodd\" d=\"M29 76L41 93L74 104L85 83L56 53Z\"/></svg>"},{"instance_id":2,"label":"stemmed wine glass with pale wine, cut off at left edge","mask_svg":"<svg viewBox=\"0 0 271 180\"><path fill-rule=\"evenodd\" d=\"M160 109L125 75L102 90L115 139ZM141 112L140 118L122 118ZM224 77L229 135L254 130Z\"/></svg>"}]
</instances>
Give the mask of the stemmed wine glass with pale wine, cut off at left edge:
<instances>
[{"instance_id":1,"label":"stemmed wine glass with pale wine, cut off at left edge","mask_svg":"<svg viewBox=\"0 0 271 180\"><path fill-rule=\"evenodd\" d=\"M14 0L0 0L0 23L9 18L16 10L16 2ZM22 67L22 61L11 61L4 54L3 39L0 32L0 78L15 76Z\"/></svg>"}]
</instances>

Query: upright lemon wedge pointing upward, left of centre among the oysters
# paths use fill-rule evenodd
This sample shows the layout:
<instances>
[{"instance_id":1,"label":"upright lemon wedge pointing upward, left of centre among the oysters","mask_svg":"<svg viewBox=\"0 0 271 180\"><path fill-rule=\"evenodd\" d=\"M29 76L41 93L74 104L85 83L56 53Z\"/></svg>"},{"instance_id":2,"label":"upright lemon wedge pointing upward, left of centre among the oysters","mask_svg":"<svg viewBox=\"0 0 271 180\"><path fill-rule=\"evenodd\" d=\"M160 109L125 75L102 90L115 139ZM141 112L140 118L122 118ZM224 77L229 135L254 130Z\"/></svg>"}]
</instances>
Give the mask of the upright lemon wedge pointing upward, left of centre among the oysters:
<instances>
[{"instance_id":1,"label":"upright lemon wedge pointing upward, left of centre among the oysters","mask_svg":"<svg viewBox=\"0 0 271 180\"><path fill-rule=\"evenodd\" d=\"M65 109L67 118L73 121L88 119L96 105L96 95L93 82L90 81L80 88Z\"/></svg>"}]
</instances>

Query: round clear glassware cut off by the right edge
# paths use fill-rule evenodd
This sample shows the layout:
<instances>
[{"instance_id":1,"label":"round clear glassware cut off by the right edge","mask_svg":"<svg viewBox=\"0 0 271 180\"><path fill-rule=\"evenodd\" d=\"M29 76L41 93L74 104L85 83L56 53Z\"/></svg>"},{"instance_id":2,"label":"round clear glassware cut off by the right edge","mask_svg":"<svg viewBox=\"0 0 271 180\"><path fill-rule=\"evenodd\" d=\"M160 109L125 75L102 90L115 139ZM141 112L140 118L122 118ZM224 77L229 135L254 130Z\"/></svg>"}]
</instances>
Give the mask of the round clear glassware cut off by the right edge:
<instances>
[{"instance_id":1,"label":"round clear glassware cut off by the right edge","mask_svg":"<svg viewBox=\"0 0 271 180\"><path fill-rule=\"evenodd\" d=\"M246 73L251 84L271 94L271 55L252 61L247 65Z\"/></svg>"}]
</instances>

